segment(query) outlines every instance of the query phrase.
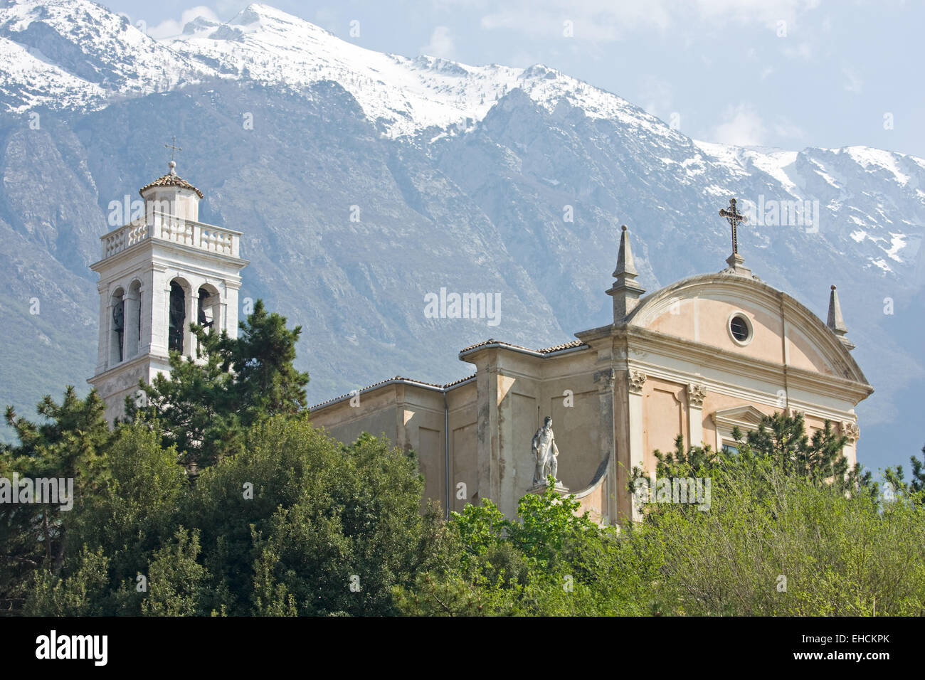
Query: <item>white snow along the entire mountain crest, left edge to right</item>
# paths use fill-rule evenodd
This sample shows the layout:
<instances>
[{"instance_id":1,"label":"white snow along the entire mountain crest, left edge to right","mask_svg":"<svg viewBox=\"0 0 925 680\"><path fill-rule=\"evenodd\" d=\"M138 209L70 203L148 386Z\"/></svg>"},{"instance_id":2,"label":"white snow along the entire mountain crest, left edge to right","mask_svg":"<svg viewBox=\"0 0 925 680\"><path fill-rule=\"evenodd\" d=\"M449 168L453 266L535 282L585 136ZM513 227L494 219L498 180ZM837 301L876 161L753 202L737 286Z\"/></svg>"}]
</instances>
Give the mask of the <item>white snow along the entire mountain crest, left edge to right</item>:
<instances>
[{"instance_id":1,"label":"white snow along the entire mountain crest, left edge to right","mask_svg":"<svg viewBox=\"0 0 925 680\"><path fill-rule=\"evenodd\" d=\"M474 130L514 89L550 113L558 105L570 105L586 117L617 122L645 139L653 154L658 153L656 147L667 151L688 142L639 107L554 69L473 67L433 56L383 54L260 4L247 6L224 24L196 19L179 37L156 41L129 19L88 0L11 2L0 6L0 36L0 56L8 65L0 71L0 106L11 113L38 107L99 109L124 96L166 92L214 79L253 80L295 93L330 80L351 93L376 130L419 144ZM920 225L920 216L882 232L879 228L887 216L852 206L853 192L845 181L859 171L882 175L922 203L925 192L916 176L925 161L869 147L810 152L808 176L797 169L796 152L761 152L709 142L695 142L684 164L694 182L702 181L708 163L733 177L756 171L767 174L789 197L800 201L812 200L808 195L822 180L833 190L825 207L838 221L855 227L854 241L874 246L862 249L870 266L890 272L907 262L909 241L919 237L915 229L907 233L906 225ZM672 163L670 157L661 160ZM727 186L712 184L703 189L718 197L728 194Z\"/></svg>"}]
</instances>

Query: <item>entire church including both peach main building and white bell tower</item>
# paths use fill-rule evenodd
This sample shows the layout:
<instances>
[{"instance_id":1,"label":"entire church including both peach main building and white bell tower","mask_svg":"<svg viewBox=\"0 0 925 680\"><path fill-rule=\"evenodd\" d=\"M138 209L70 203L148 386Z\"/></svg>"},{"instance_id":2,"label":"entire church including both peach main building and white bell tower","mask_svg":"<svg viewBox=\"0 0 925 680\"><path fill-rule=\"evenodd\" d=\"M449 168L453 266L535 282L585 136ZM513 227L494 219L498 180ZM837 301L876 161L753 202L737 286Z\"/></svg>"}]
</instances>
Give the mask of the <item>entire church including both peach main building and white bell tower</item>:
<instances>
[{"instance_id":1,"label":"entire church including both peach main building and white bell tower","mask_svg":"<svg viewBox=\"0 0 925 680\"><path fill-rule=\"evenodd\" d=\"M100 333L90 383L110 420L139 395L140 378L169 371L169 351L195 356L192 321L237 335L247 265L240 232L198 221L203 194L172 160L140 193L143 211L101 237L92 266ZM475 368L470 377L445 385L390 378L314 406L314 425L343 442L385 433L416 451L425 501L449 512L491 499L508 517L542 478L536 441L553 450L549 426L556 478L602 522L634 516L628 479L635 467L654 473L653 451L672 450L679 434L685 445L734 446L734 427L752 429L765 414L801 412L810 430L832 421L854 464L855 407L873 389L849 353L835 287L824 323L746 268L734 200L721 215L733 254L719 273L644 295L623 227L606 291L611 324L542 349L479 342L459 352Z\"/></svg>"}]
</instances>

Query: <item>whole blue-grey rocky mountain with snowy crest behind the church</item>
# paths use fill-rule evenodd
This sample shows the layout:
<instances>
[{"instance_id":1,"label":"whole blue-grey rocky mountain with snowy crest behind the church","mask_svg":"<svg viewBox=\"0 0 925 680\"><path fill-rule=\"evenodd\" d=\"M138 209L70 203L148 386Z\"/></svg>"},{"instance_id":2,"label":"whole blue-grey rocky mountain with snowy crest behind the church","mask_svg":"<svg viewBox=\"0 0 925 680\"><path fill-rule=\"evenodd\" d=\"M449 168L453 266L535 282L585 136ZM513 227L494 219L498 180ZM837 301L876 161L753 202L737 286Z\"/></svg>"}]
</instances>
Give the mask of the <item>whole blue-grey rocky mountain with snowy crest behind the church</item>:
<instances>
[{"instance_id":1,"label":"whole blue-grey rocky mountain with snowy crest behind the church","mask_svg":"<svg viewBox=\"0 0 925 680\"><path fill-rule=\"evenodd\" d=\"M735 195L759 277L820 315L838 284L877 389L864 422L913 420L922 159L698 142L551 68L377 53L265 5L157 41L87 0L0 3L0 59L0 310L6 346L24 345L0 357L0 402L93 373L87 266L110 203L162 174L176 134L203 219L244 232L242 298L305 328L314 401L396 374L459 377L455 352L488 335L555 344L604 323L621 223L649 291L719 270L716 214ZM500 292L500 328L425 319L424 294L448 285Z\"/></svg>"}]
</instances>

